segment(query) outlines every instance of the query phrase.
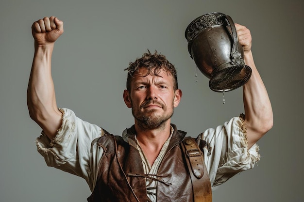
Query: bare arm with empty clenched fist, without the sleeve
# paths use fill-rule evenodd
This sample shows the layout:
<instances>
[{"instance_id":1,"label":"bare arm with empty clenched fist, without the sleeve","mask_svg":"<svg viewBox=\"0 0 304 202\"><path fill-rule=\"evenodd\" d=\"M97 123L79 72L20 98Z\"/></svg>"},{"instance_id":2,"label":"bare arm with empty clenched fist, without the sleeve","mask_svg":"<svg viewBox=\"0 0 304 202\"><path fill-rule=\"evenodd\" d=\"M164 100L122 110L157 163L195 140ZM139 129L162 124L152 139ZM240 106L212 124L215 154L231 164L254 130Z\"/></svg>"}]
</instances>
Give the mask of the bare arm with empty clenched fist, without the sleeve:
<instances>
[{"instance_id":1,"label":"bare arm with empty clenched fist, without the sleeve","mask_svg":"<svg viewBox=\"0 0 304 202\"><path fill-rule=\"evenodd\" d=\"M30 117L52 140L62 124L62 113L57 109L51 77L51 55L54 42L63 33L63 22L57 17L44 17L33 23L34 60L27 91Z\"/></svg>"}]
</instances>

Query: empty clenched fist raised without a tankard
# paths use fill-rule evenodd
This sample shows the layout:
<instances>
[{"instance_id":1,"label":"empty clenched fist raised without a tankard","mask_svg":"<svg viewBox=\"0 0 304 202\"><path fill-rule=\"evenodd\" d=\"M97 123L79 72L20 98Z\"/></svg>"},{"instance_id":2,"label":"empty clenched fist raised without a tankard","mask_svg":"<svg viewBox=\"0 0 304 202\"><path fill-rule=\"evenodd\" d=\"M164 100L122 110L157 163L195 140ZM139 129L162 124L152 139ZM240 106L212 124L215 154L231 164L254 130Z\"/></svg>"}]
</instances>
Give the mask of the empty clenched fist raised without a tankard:
<instances>
[{"instance_id":1,"label":"empty clenched fist raised without a tankard","mask_svg":"<svg viewBox=\"0 0 304 202\"><path fill-rule=\"evenodd\" d=\"M63 33L63 21L57 17L44 17L34 22L32 34L37 46L53 44Z\"/></svg>"}]
</instances>

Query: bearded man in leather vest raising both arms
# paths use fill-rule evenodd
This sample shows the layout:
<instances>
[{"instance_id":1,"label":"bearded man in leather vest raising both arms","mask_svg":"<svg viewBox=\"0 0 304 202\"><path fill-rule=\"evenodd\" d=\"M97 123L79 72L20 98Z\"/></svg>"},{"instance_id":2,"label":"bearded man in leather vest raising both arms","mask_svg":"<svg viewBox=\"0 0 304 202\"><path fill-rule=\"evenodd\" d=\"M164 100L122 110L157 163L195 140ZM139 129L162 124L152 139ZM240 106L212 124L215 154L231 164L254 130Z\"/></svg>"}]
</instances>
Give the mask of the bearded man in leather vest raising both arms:
<instances>
[{"instance_id":1,"label":"bearded man in leather vest raising both arms","mask_svg":"<svg viewBox=\"0 0 304 202\"><path fill-rule=\"evenodd\" d=\"M63 22L54 16L32 26L35 53L27 101L31 118L43 129L36 140L38 152L49 166L83 177L93 192L88 201L190 202L196 201L197 192L210 200L209 186L253 168L259 160L255 143L272 127L270 100L253 62L250 31L238 24L236 30L245 63L253 71L243 86L246 116L197 137L203 170L208 171L196 170L204 176L202 189L194 187L196 179L190 177L186 164L181 143L186 133L170 122L182 98L174 65L156 51L130 62L123 98L132 108L135 124L122 137L114 137L73 111L57 108L51 54L63 33Z\"/></svg>"}]
</instances>

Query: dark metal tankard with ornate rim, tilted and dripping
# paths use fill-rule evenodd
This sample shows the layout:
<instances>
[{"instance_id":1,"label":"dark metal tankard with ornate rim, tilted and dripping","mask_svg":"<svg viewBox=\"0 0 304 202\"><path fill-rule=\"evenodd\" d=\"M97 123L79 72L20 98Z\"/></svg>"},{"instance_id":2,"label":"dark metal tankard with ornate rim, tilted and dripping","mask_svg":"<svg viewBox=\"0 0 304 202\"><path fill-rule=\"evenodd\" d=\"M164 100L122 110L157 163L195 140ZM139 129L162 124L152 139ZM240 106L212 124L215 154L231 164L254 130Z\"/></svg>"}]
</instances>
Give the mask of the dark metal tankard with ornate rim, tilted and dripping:
<instances>
[{"instance_id":1,"label":"dark metal tankard with ornate rim, tilted and dripping","mask_svg":"<svg viewBox=\"0 0 304 202\"><path fill-rule=\"evenodd\" d=\"M244 62L230 16L209 13L193 20L185 32L188 51L215 92L228 92L244 85L252 70Z\"/></svg>"}]
</instances>

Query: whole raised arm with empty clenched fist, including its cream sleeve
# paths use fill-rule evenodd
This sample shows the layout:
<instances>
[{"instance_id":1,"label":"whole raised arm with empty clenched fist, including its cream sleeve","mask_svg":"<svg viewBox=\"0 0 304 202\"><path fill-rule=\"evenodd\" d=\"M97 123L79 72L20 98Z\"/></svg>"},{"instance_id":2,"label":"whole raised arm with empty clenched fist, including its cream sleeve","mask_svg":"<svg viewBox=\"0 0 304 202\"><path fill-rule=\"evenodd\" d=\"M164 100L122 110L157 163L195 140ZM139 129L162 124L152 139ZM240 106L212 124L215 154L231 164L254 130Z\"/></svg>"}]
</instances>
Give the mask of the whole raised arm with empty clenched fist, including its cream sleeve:
<instances>
[{"instance_id":1,"label":"whole raised arm with empty clenched fist, including its cream sleeve","mask_svg":"<svg viewBox=\"0 0 304 202\"><path fill-rule=\"evenodd\" d=\"M45 17L34 22L32 32L35 53L27 102L31 118L43 129L36 139L37 150L48 166L84 178L93 191L103 155L97 140L103 130L81 120L70 109L57 109L51 77L51 54L54 42L63 33L63 22Z\"/></svg>"}]
</instances>

